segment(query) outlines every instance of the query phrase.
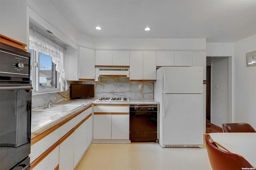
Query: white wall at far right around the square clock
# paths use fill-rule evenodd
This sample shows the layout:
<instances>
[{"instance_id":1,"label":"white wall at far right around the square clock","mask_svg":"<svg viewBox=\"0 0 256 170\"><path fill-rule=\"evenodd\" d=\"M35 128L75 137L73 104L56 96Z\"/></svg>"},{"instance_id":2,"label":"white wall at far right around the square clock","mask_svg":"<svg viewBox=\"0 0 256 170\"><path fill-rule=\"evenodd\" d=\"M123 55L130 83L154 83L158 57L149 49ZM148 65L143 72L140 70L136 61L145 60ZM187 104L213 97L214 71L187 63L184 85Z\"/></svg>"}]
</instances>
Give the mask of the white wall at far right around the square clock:
<instances>
[{"instance_id":1,"label":"white wall at far right around the square clock","mask_svg":"<svg viewBox=\"0 0 256 170\"><path fill-rule=\"evenodd\" d=\"M256 51L256 35L234 43L234 122L256 129L256 66L246 66L251 51Z\"/></svg>"}]
</instances>

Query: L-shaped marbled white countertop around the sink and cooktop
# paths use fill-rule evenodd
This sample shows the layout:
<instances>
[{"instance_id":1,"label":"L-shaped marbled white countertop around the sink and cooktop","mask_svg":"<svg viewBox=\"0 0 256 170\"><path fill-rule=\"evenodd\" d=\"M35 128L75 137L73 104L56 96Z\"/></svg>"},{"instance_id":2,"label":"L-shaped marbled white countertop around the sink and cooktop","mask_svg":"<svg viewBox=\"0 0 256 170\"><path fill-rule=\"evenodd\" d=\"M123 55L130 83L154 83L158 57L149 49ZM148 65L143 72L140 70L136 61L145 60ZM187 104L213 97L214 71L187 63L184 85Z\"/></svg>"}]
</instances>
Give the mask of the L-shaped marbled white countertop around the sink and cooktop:
<instances>
[{"instance_id":1,"label":"L-shaped marbled white countertop around the sink and cooktop","mask_svg":"<svg viewBox=\"0 0 256 170\"><path fill-rule=\"evenodd\" d=\"M44 131L47 131L51 127L57 125L58 123L64 121L68 117L74 115L78 111L81 111L91 104L159 104L158 101L152 100L137 100L129 99L129 102L95 102L96 99L84 99L84 100L70 100L69 102L64 102L61 104L83 104L83 106L78 107L72 111L34 111L32 110L31 115L31 139L40 135ZM38 108L37 108L38 109Z\"/></svg>"}]
</instances>

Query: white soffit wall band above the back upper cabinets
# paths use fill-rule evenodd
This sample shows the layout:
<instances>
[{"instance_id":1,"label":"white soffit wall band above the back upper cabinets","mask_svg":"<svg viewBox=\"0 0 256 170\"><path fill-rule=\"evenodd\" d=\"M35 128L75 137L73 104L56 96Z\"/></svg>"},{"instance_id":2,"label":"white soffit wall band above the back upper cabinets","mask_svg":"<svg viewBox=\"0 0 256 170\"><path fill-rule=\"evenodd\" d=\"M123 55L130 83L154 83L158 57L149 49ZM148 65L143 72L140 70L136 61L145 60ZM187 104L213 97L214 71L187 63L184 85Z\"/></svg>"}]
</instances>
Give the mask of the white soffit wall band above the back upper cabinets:
<instances>
[{"instance_id":1,"label":"white soffit wall band above the back upper cabinets","mask_svg":"<svg viewBox=\"0 0 256 170\"><path fill-rule=\"evenodd\" d=\"M96 50L198 50L206 39L97 38L79 34L78 45Z\"/></svg>"}]
</instances>

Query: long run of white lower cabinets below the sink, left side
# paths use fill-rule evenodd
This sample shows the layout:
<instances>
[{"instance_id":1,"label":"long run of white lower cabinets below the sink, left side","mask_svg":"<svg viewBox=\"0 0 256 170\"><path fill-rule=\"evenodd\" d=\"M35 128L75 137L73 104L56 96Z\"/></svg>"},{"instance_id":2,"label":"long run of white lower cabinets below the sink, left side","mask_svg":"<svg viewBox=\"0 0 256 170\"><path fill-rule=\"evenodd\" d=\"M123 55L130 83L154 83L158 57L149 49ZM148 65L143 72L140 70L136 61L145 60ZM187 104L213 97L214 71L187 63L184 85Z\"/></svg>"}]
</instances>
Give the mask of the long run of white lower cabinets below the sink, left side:
<instances>
[{"instance_id":1,"label":"long run of white lower cabinets below the sink, left side","mask_svg":"<svg viewBox=\"0 0 256 170\"><path fill-rule=\"evenodd\" d=\"M87 112L88 110L88 112ZM87 114L88 113L88 114ZM92 106L65 123L32 139L30 169L73 170L92 141ZM111 116L111 115L110 115ZM41 136L44 136L42 134ZM39 162L39 163L38 163Z\"/></svg>"}]
</instances>

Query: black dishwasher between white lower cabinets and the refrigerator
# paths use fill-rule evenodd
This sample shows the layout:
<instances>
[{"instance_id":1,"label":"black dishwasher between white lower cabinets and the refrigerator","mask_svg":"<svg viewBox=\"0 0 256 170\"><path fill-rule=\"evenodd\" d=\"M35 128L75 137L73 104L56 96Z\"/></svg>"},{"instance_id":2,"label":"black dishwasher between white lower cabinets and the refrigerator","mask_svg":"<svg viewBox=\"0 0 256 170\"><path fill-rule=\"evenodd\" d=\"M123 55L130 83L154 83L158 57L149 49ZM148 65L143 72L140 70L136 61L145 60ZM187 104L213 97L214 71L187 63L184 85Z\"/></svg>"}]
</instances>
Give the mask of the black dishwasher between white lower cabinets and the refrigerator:
<instances>
[{"instance_id":1,"label":"black dishwasher between white lower cabinets and the refrigerator","mask_svg":"<svg viewBox=\"0 0 256 170\"><path fill-rule=\"evenodd\" d=\"M130 141L157 142L157 105L130 105Z\"/></svg>"}]
</instances>

